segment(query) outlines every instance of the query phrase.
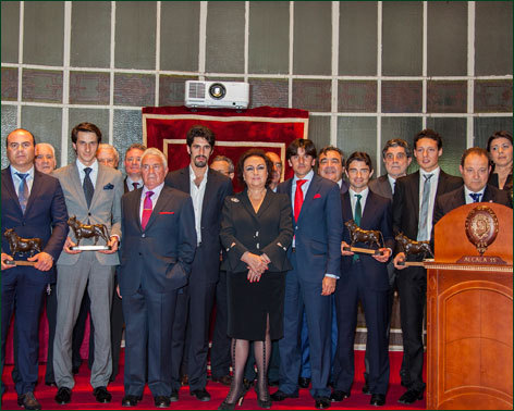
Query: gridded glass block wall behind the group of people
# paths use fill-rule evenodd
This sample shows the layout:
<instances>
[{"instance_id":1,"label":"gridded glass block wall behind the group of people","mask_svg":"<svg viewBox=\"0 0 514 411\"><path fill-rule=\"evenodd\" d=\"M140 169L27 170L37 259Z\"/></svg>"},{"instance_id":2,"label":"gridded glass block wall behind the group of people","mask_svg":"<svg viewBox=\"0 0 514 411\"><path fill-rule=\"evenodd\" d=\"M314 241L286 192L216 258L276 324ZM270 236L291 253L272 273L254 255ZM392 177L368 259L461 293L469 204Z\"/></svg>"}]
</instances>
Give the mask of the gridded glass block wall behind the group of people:
<instances>
[{"instance_id":1,"label":"gridded glass block wall behind the group of people","mask_svg":"<svg viewBox=\"0 0 514 411\"><path fill-rule=\"evenodd\" d=\"M1 132L32 130L58 163L96 123L122 153L140 108L183 104L186 79L244 80L250 107L310 112L309 136L383 171L389 138L424 127L458 173L466 147L512 132L510 1L1 2ZM2 141L2 164L5 145ZM413 170L415 166L413 166Z\"/></svg>"}]
</instances>

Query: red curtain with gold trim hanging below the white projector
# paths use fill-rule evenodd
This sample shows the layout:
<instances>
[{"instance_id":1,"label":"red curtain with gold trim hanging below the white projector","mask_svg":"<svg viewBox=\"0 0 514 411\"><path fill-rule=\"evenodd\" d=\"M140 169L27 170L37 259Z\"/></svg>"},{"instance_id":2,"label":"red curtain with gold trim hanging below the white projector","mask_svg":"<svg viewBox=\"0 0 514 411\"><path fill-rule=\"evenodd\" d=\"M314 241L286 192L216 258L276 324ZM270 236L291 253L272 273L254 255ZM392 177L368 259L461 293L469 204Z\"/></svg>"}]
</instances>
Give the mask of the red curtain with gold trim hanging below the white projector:
<instances>
[{"instance_id":1,"label":"red curtain with gold trim hanging below the white projector","mask_svg":"<svg viewBox=\"0 0 514 411\"><path fill-rule=\"evenodd\" d=\"M189 163L185 136L195 124L215 133L213 155L227 155L236 165L240 155L249 148L274 151L285 165L283 177L289 178L292 170L285 162L285 149L295 138L307 138L308 111L272 107L248 110L147 107L143 109L144 144L162 150L171 171L182 169Z\"/></svg>"}]
</instances>

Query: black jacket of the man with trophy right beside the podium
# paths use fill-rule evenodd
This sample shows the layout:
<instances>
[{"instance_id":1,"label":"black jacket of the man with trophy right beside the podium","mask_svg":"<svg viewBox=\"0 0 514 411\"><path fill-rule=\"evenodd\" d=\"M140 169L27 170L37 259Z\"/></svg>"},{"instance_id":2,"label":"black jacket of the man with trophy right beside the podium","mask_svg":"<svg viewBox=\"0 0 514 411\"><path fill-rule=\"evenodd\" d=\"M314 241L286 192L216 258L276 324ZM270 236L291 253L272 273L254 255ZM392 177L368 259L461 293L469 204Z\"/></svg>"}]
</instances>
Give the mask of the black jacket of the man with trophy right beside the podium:
<instances>
[{"instance_id":1,"label":"black jacket of the man with trophy right beside the podium","mask_svg":"<svg viewBox=\"0 0 514 411\"><path fill-rule=\"evenodd\" d=\"M439 173L436 199L463 185L461 177ZM433 207L436 208L436 207ZM403 232L408 238L415 240L418 234L419 222L419 171L396 179L393 196L393 232ZM432 220L433 222L433 220ZM402 250L396 250L396 252Z\"/></svg>"}]
</instances>

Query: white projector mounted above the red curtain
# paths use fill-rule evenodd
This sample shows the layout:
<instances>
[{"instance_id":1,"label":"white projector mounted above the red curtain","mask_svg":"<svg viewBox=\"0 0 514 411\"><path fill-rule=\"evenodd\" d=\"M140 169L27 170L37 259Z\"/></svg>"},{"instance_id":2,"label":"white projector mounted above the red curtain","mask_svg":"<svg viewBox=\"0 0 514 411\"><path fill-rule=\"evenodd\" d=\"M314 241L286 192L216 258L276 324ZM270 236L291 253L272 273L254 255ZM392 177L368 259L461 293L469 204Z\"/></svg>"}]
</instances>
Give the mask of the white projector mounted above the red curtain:
<instances>
[{"instance_id":1,"label":"white projector mounted above the red curtain","mask_svg":"<svg viewBox=\"0 0 514 411\"><path fill-rule=\"evenodd\" d=\"M249 84L186 80L184 100L188 108L246 109L249 102Z\"/></svg>"}]
</instances>

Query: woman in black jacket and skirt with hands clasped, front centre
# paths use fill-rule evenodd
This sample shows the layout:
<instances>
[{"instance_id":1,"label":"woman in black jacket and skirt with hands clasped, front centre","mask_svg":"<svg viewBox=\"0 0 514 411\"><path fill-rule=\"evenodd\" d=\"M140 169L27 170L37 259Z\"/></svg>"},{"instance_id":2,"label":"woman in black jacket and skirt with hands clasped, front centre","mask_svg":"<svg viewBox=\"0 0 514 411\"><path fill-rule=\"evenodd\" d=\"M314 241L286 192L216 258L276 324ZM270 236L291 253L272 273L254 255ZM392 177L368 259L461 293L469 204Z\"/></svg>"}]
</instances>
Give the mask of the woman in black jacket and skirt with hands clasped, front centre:
<instances>
[{"instance_id":1,"label":"woman in black jacket and skirt with hands clasped, front centre","mask_svg":"<svg viewBox=\"0 0 514 411\"><path fill-rule=\"evenodd\" d=\"M249 341L258 369L257 401L270 408L267 368L271 339L283 335L286 250L293 239L291 202L268 187L273 166L262 150L246 151L237 164L243 192L225 198L220 238L225 258L229 329L234 376L219 407L232 410L245 395L243 375Z\"/></svg>"}]
</instances>

